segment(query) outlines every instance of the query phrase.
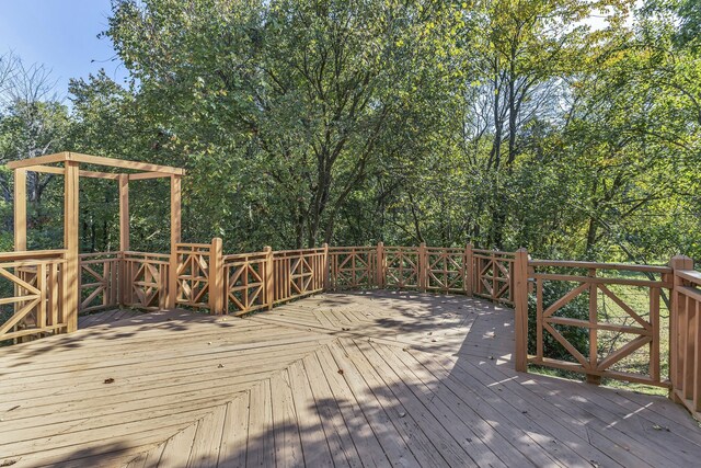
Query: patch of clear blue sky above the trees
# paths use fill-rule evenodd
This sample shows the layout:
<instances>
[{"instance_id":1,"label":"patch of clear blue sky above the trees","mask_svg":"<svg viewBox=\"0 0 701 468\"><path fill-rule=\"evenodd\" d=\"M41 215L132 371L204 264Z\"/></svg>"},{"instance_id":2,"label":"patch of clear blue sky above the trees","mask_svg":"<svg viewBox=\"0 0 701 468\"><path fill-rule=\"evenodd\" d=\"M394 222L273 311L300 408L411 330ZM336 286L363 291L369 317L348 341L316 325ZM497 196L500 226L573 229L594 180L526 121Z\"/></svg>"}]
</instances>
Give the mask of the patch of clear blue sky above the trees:
<instances>
[{"instance_id":1,"label":"patch of clear blue sky above the trees","mask_svg":"<svg viewBox=\"0 0 701 468\"><path fill-rule=\"evenodd\" d=\"M110 0L0 0L0 55L13 52L25 66L51 69L59 98L70 78L100 68L123 82L126 70L112 60L112 43L96 37L107 28L110 11Z\"/></svg>"}]
</instances>

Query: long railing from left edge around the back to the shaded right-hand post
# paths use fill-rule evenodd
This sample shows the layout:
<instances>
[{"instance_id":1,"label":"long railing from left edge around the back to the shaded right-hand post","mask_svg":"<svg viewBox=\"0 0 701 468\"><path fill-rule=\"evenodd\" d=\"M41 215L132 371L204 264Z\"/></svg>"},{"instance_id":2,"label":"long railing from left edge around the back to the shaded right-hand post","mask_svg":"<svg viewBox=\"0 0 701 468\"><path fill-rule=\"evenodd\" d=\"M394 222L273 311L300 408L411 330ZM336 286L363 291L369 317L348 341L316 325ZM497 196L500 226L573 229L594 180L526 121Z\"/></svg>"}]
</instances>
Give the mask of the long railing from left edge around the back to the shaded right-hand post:
<instances>
[{"instance_id":1,"label":"long railing from left edge around the back to the shaded right-hand post","mask_svg":"<svg viewBox=\"0 0 701 468\"><path fill-rule=\"evenodd\" d=\"M221 246L221 239L215 238L210 243L176 243L171 254L134 251L81 254L80 274L72 283L77 283L80 293L78 311L90 313L120 306L156 310L174 304L238 316L322 290L386 287L474 293L512 304L514 254L507 252L473 250L471 246L434 248L423 243L384 247L380 242L372 247L324 246L286 251L266 248L262 252L223 255ZM37 259L47 254L56 253L3 255L10 263L33 259L36 266L42 263ZM12 281L24 282L36 289L32 283L36 281L33 267L27 264L24 270L20 269ZM27 297L35 299L34 295L24 294L35 289L15 286L5 289L0 304L23 304L30 300ZM2 335L9 329L16 333L19 328L35 327L31 313L13 319L5 327L2 319L7 317L7 311L0 317L0 327L7 329ZM72 320L72 328L68 329L76 329L77 316L68 317ZM55 322L48 323L54 327Z\"/></svg>"}]
</instances>

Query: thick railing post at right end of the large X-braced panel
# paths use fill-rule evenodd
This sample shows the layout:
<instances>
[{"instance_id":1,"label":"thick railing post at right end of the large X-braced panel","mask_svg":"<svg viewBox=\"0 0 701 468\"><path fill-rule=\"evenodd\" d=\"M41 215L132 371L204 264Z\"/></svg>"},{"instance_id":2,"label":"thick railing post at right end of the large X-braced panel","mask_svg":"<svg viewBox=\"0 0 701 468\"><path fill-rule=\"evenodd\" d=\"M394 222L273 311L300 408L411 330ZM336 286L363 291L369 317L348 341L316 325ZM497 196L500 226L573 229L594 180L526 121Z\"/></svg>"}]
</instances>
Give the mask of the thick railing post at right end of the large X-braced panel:
<instances>
[{"instance_id":1,"label":"thick railing post at right end of the large X-braced panel","mask_svg":"<svg viewBox=\"0 0 701 468\"><path fill-rule=\"evenodd\" d=\"M675 255L669 261L669 266L671 267L671 289L669 292L669 380L671 381L671 390L669 397L673 401L680 403L681 399L677 395L677 390L683 388L683 361L688 356L683 354L685 350L679 347L679 332L682 330L679 319L686 311L686 301L680 298L678 293L678 288L683 285L683 282L677 271L693 270L693 260L686 255Z\"/></svg>"}]
</instances>

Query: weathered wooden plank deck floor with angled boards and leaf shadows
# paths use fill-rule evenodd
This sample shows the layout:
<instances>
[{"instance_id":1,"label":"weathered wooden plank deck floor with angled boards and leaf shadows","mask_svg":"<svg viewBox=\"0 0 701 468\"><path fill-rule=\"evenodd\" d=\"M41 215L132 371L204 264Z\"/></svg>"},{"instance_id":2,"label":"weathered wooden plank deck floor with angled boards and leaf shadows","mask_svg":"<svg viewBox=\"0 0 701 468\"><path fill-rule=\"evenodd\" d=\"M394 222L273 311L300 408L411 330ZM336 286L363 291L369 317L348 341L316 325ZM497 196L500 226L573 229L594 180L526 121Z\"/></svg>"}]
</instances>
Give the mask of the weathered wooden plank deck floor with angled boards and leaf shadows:
<instances>
[{"instance_id":1,"label":"weathered wooden plank deck floor with angled boards and leaf shadows","mask_svg":"<svg viewBox=\"0 0 701 468\"><path fill-rule=\"evenodd\" d=\"M0 351L0 465L687 467L665 398L517 374L513 312L327 294L100 322Z\"/></svg>"}]
</instances>

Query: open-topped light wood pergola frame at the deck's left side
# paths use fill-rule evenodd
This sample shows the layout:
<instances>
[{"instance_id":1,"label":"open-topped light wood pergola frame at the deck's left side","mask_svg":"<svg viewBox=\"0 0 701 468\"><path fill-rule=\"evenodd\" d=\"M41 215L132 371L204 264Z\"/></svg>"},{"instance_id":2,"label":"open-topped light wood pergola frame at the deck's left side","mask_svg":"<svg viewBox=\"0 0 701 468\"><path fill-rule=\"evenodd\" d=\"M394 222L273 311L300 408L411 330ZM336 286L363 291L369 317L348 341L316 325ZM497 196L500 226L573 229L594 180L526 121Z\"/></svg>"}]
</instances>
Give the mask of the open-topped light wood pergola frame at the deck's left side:
<instances>
[{"instance_id":1,"label":"open-topped light wood pergola frame at the deck's left side","mask_svg":"<svg viewBox=\"0 0 701 468\"><path fill-rule=\"evenodd\" d=\"M51 165L54 164L54 165ZM81 164L118 168L129 172L97 172L81 169ZM68 332L74 331L79 306L79 186L80 178L107 179L119 184L119 250L129 250L129 182L146 179L170 178L171 180L171 263L176 262L176 244L181 241L181 179L184 169L148 162L127 161L77 152L58 152L36 158L12 161L7 164L14 172L14 250L26 251L26 173L44 172L64 175L64 249L66 250L65 279L72 282L64 298L68 320ZM172 264L175 271L176 264ZM170 290L176 290L176 275L170 275ZM170 294L168 307L175 307L175 295Z\"/></svg>"}]
</instances>

